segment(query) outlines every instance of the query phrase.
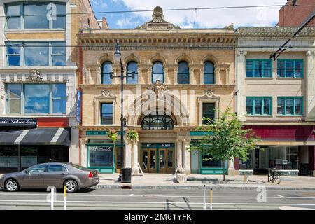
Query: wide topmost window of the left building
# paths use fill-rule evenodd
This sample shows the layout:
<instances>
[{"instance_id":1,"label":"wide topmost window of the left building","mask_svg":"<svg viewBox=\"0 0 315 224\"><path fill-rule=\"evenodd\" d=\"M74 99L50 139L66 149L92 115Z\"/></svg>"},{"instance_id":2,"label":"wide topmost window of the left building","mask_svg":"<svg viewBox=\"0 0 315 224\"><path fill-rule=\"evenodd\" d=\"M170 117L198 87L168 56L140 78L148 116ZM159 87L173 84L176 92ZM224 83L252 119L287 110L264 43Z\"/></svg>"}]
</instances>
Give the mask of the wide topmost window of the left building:
<instances>
[{"instance_id":1,"label":"wide topmost window of the left building","mask_svg":"<svg viewBox=\"0 0 315 224\"><path fill-rule=\"evenodd\" d=\"M6 17L6 29L65 29L66 4L41 1L7 4Z\"/></svg>"}]
</instances>

